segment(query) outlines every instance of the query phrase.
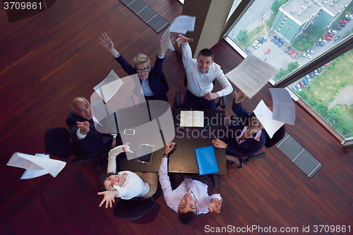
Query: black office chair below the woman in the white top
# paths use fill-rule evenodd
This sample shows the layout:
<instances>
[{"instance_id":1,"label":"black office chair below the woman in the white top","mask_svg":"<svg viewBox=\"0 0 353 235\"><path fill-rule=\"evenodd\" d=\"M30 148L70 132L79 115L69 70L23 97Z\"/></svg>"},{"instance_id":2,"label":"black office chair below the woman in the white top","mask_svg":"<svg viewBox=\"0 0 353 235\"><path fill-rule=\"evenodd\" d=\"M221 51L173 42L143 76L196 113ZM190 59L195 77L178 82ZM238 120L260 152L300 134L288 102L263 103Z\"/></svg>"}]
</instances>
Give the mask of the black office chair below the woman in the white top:
<instances>
[{"instance_id":1,"label":"black office chair below the woman in the white top","mask_svg":"<svg viewBox=\"0 0 353 235\"><path fill-rule=\"evenodd\" d=\"M155 207L155 200L152 197L119 200L114 207L114 215L118 219L136 220L146 215L153 207Z\"/></svg>"}]
</instances>

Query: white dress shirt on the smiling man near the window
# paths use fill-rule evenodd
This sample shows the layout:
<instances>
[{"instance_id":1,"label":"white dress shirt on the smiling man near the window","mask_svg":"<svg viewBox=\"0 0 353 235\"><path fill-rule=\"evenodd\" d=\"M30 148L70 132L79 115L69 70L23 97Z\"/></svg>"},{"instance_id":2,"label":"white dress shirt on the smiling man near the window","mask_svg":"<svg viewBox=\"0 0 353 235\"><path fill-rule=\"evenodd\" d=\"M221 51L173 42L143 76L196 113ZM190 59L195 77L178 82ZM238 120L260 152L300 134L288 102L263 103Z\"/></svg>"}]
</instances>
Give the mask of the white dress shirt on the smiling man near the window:
<instances>
[{"instance_id":1,"label":"white dress shirt on the smiling man near the window","mask_svg":"<svg viewBox=\"0 0 353 235\"><path fill-rule=\"evenodd\" d=\"M213 90L213 80L217 79L222 85L222 90L218 91L217 94L222 97L229 95L232 91L232 85L226 78L225 73L218 64L213 64L208 68L208 71L201 73L198 70L198 63L196 59L192 58L191 47L189 43L186 46L182 46L183 51L183 64L188 78L188 89L190 92L197 96L203 97L208 92Z\"/></svg>"}]
</instances>

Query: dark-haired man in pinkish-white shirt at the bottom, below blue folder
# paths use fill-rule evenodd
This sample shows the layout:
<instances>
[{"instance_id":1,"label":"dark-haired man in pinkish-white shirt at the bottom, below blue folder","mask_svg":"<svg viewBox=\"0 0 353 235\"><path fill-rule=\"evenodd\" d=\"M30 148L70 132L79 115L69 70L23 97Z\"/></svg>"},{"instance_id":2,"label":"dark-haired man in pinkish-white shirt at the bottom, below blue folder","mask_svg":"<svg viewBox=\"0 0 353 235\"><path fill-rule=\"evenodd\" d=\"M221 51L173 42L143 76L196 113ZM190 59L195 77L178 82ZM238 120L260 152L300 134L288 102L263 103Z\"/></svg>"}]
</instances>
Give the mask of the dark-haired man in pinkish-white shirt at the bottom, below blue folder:
<instances>
[{"instance_id":1,"label":"dark-haired man in pinkish-white shirt at the bottom, below blue folder","mask_svg":"<svg viewBox=\"0 0 353 235\"><path fill-rule=\"evenodd\" d=\"M208 195L208 185L198 180L185 179L172 190L168 176L168 155L175 143L169 143L164 147L162 162L160 164L160 185L162 187L165 202L175 212L182 224L192 224L196 216L207 212L220 213L222 197L220 194Z\"/></svg>"}]
</instances>

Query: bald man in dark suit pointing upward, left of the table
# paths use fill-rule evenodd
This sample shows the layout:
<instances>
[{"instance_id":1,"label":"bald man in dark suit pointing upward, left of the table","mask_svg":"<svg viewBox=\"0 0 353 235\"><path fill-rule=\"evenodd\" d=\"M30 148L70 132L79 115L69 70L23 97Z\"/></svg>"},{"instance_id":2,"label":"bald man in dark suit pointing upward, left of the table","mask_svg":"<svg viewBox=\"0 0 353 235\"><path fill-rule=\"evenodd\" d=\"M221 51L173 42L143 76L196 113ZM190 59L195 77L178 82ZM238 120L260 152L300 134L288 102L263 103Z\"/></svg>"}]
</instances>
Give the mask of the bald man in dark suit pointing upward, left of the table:
<instances>
[{"instance_id":1,"label":"bald man in dark suit pointing upward, left of the table","mask_svg":"<svg viewBox=\"0 0 353 235\"><path fill-rule=\"evenodd\" d=\"M110 148L116 145L116 138L96 130L90 102L84 97L76 97L71 101L71 109L66 119L71 139L79 141L92 156L108 156Z\"/></svg>"}]
</instances>

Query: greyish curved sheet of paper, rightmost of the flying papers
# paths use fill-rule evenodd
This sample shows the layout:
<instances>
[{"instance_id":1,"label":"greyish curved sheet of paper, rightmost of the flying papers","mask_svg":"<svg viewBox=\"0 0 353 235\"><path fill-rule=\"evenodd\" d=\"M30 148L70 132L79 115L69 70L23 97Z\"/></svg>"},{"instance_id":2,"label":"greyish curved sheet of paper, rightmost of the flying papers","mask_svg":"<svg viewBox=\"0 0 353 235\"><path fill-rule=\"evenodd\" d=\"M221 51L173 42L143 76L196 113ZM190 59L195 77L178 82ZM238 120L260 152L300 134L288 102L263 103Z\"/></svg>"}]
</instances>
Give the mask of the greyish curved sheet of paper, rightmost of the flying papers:
<instances>
[{"instance_id":1,"label":"greyish curved sheet of paper, rightmost of the flying papers","mask_svg":"<svg viewBox=\"0 0 353 235\"><path fill-rule=\"evenodd\" d=\"M270 88L273 100L273 119L294 125L295 104L284 88Z\"/></svg>"}]
</instances>

